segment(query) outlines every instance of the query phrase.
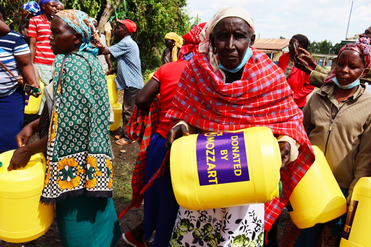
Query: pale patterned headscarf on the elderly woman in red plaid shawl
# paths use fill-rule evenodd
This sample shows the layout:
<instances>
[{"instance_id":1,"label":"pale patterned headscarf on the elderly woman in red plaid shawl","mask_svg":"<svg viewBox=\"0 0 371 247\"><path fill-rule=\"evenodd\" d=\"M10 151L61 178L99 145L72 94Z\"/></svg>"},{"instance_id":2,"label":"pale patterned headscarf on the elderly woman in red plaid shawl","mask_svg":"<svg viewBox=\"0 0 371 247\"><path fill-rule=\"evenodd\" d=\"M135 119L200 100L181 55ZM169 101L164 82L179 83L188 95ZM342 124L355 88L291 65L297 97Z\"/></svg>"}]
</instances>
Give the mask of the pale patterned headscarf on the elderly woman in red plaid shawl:
<instances>
[{"instance_id":1,"label":"pale patterned headscarf on the elderly woman in red plaid shawl","mask_svg":"<svg viewBox=\"0 0 371 247\"><path fill-rule=\"evenodd\" d=\"M220 9L206 23L200 34L201 42L200 45L198 45L198 49L201 53L208 53L211 67L213 67L213 71L219 77L222 77L223 73L221 73L221 69L219 69L219 57L216 53L214 54L213 47L211 46L210 34L213 33L215 26L220 22L220 20L226 17L239 17L243 19L252 28L253 32L255 32L254 20L246 10L240 7L227 7Z\"/></svg>"}]
</instances>

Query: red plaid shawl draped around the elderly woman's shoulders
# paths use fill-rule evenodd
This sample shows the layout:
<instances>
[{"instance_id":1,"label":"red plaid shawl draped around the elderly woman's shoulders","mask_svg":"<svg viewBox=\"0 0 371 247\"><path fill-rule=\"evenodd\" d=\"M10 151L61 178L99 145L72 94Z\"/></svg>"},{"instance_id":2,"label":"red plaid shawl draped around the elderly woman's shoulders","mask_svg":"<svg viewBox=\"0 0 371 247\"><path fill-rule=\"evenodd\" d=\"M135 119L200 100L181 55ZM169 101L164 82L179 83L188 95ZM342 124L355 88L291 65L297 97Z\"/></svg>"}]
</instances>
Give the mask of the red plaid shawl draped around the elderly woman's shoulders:
<instances>
[{"instance_id":1,"label":"red plaid shawl draped around the elderly woman's shoulders","mask_svg":"<svg viewBox=\"0 0 371 247\"><path fill-rule=\"evenodd\" d=\"M242 79L233 83L224 83L213 73L206 54L195 56L181 76L166 116L206 131L267 126L275 136L287 135L301 144L299 157L281 171L283 196L265 205L265 230L269 231L314 155L285 75L264 53L252 50Z\"/></svg>"}]
</instances>

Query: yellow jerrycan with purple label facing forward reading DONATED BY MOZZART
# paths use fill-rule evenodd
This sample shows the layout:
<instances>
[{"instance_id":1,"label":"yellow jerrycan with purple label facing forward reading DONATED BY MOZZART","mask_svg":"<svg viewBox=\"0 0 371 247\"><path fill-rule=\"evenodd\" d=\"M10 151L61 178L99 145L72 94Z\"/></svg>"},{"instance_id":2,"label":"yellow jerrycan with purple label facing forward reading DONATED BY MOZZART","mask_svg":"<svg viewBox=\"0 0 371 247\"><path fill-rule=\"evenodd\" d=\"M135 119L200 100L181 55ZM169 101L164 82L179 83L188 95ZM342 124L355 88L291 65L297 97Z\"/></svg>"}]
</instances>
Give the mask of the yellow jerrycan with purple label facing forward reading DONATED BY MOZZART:
<instances>
[{"instance_id":1,"label":"yellow jerrycan with purple label facing forward reading DONATED BY MOZZART","mask_svg":"<svg viewBox=\"0 0 371 247\"><path fill-rule=\"evenodd\" d=\"M267 127L182 136L170 152L175 198L190 210L279 197L281 164L277 139Z\"/></svg>"}]
</instances>

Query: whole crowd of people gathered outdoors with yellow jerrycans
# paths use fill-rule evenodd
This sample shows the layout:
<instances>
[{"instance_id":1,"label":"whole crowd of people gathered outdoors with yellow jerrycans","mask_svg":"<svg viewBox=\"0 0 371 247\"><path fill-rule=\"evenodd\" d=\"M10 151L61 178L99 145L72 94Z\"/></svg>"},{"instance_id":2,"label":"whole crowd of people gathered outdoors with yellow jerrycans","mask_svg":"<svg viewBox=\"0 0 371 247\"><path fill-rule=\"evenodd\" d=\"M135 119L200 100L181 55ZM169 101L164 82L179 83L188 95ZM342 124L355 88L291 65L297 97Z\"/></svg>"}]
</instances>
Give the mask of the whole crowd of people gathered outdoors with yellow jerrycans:
<instances>
[{"instance_id":1,"label":"whole crowd of people gathered outdoors with yellow jerrycans","mask_svg":"<svg viewBox=\"0 0 371 247\"><path fill-rule=\"evenodd\" d=\"M56 206L62 246L115 246L122 237L145 247L154 232L155 247L278 246L272 234L277 218L315 160L312 145L324 152L348 205L359 178L371 176L371 95L364 84L371 73L371 27L359 42L341 48L329 73L316 64L302 34L292 36L276 65L254 48L250 14L223 8L183 36L167 33L163 65L144 85L132 20L117 19L116 43L107 47L96 19L64 10L60 1L29 1L20 15L16 33L0 4L0 126L7 129L0 152L16 149L9 171L45 154L40 201ZM115 144L141 146L127 210L144 200L144 221L124 234L112 201L106 83L112 74L117 90L124 90ZM44 84L40 117L26 126L24 83ZM320 89L307 101L315 87ZM270 128L279 143L282 196L202 211L178 205L167 159L174 140L253 126ZM34 133L39 140L29 144ZM279 246L339 246L345 217L306 229L289 219Z\"/></svg>"}]
</instances>

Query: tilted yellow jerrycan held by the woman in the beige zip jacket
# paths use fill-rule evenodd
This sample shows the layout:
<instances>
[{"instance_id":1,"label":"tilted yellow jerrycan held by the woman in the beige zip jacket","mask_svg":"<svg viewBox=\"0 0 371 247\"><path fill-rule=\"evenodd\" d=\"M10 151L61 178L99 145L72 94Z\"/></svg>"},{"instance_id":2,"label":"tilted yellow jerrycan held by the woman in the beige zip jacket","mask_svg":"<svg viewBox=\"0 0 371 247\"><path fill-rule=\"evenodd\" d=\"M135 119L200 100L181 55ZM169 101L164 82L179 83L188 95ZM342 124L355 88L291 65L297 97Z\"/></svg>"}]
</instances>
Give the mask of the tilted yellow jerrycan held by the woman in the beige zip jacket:
<instances>
[{"instance_id":1,"label":"tilted yellow jerrycan held by the woman in the beige zip jacket","mask_svg":"<svg viewBox=\"0 0 371 247\"><path fill-rule=\"evenodd\" d=\"M315 161L292 191L286 205L291 220L300 229L326 223L347 213L347 200L323 152L317 146L312 148Z\"/></svg>"}]
</instances>

